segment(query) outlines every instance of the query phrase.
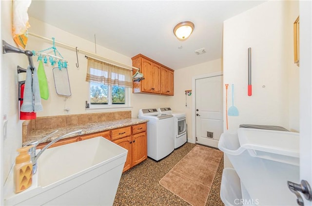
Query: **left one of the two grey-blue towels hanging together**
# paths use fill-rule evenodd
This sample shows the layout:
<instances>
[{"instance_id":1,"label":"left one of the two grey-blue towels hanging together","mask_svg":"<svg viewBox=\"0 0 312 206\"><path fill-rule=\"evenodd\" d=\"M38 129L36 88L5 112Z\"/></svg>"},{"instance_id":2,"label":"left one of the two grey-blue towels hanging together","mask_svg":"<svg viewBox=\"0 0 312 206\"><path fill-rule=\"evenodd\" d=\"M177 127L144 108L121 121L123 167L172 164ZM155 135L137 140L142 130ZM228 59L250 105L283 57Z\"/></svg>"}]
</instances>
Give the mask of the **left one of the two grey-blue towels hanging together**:
<instances>
[{"instance_id":1,"label":"left one of the two grey-blue towels hanging together","mask_svg":"<svg viewBox=\"0 0 312 206\"><path fill-rule=\"evenodd\" d=\"M30 67L26 70L26 80L25 80L25 87L24 87L24 96L23 96L23 104L20 106L21 112L33 112L33 77L32 77L32 70Z\"/></svg>"}]
</instances>

